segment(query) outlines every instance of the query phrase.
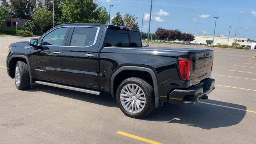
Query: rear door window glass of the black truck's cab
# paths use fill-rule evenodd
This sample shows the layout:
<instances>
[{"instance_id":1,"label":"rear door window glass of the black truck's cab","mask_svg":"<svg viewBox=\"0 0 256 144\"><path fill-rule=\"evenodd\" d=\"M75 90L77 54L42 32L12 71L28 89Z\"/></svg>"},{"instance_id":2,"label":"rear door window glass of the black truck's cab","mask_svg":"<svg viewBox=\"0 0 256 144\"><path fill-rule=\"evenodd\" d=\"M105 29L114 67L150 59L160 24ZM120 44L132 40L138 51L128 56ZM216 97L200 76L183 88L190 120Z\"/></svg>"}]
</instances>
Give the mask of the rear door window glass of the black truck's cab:
<instances>
[{"instance_id":1,"label":"rear door window glass of the black truck's cab","mask_svg":"<svg viewBox=\"0 0 256 144\"><path fill-rule=\"evenodd\" d=\"M96 39L98 28L76 27L72 34L70 46L92 46Z\"/></svg>"}]
</instances>

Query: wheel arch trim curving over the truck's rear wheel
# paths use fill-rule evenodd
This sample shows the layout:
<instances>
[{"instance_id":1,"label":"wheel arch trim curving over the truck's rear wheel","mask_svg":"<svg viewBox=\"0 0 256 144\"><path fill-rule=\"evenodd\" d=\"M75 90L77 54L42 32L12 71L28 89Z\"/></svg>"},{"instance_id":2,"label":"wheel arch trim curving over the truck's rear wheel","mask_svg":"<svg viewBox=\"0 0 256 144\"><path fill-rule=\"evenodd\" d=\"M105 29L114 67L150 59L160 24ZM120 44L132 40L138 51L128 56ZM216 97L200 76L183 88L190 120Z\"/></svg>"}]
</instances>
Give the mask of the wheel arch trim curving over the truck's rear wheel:
<instances>
[{"instance_id":1,"label":"wheel arch trim curving over the truck's rear wheel","mask_svg":"<svg viewBox=\"0 0 256 144\"><path fill-rule=\"evenodd\" d=\"M159 95L158 95L158 83L157 83L157 79L156 79L156 74L154 73L154 71L150 68L146 68L146 67L140 67L140 66L122 66L121 68L119 68L118 70L116 70L116 72L114 72L114 74L112 74L111 76L111 80L110 80L110 91L111 91L111 95L113 98L115 98L114 95L114 79L115 77L122 71L124 70L136 70L136 71L143 71L143 72L148 72L152 78L152 82L153 82L153 88L154 88L154 95L155 95L155 107L158 108L159 107Z\"/></svg>"}]
</instances>

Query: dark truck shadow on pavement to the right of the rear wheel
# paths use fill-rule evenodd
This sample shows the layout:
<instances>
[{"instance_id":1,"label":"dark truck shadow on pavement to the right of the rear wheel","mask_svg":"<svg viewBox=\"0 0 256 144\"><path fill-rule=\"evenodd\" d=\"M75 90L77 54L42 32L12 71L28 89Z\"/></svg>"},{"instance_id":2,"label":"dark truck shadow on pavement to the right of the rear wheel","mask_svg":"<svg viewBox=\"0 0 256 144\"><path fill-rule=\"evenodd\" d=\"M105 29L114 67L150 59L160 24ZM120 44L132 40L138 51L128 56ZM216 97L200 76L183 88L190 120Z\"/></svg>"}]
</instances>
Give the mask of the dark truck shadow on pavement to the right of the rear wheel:
<instances>
[{"instance_id":1,"label":"dark truck shadow on pavement to the right of the rear wheel","mask_svg":"<svg viewBox=\"0 0 256 144\"><path fill-rule=\"evenodd\" d=\"M205 103L193 105L164 104L161 108L155 109L152 114L144 118L151 121L167 121L168 123L185 124L202 129L210 130L232 126L240 123L246 114L246 106L220 102L216 100L200 100ZM226 108L221 106L228 106ZM238 109L233 109L238 108Z\"/></svg>"}]
</instances>

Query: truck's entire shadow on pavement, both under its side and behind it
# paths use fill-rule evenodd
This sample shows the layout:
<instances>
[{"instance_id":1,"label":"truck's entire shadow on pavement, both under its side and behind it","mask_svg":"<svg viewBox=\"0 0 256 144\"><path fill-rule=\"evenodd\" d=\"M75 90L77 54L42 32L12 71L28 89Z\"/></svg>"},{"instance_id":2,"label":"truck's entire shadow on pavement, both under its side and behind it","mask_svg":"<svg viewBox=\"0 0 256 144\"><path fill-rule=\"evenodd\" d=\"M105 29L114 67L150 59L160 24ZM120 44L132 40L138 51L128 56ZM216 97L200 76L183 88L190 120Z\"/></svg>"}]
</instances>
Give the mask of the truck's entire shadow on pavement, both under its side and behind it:
<instances>
[{"instance_id":1,"label":"truck's entire shadow on pavement, both under its side and behind it","mask_svg":"<svg viewBox=\"0 0 256 144\"><path fill-rule=\"evenodd\" d=\"M62 88L55 88L38 84L34 84L32 89L28 89L26 91L46 92L50 94L56 94L58 96L64 96L67 98L73 98L76 100L99 104L102 106L118 107L116 100L113 99L110 95L97 96L93 94L86 94L83 92L76 92L73 90L66 90ZM154 111L150 115L142 118L141 120L161 121L168 122L170 124L185 124L187 126L194 126L210 130L212 128L236 125L242 121L246 114L246 106L231 104L227 102L220 102L216 100L200 101L206 102L208 104L200 102L193 105L178 105L165 103L164 106L158 109L154 109ZM232 108L226 108L211 104L228 106ZM242 110L233 108L238 108Z\"/></svg>"}]
</instances>

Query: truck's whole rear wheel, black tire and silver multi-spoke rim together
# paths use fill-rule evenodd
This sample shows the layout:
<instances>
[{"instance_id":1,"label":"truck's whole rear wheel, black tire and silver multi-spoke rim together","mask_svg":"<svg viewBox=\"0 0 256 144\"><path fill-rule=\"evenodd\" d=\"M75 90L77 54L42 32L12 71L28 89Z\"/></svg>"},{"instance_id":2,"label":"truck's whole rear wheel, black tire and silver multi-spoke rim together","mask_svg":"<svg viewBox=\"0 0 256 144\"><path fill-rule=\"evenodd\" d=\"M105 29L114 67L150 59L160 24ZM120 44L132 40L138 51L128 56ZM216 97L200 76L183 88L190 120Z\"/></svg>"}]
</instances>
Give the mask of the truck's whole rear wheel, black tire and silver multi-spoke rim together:
<instances>
[{"instance_id":1,"label":"truck's whole rear wheel, black tire and silver multi-spoke rim together","mask_svg":"<svg viewBox=\"0 0 256 144\"><path fill-rule=\"evenodd\" d=\"M154 109L154 89L140 78L127 78L118 86L116 101L126 116L143 118Z\"/></svg>"}]
</instances>

